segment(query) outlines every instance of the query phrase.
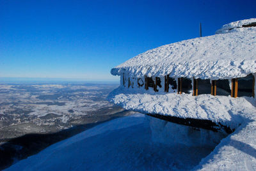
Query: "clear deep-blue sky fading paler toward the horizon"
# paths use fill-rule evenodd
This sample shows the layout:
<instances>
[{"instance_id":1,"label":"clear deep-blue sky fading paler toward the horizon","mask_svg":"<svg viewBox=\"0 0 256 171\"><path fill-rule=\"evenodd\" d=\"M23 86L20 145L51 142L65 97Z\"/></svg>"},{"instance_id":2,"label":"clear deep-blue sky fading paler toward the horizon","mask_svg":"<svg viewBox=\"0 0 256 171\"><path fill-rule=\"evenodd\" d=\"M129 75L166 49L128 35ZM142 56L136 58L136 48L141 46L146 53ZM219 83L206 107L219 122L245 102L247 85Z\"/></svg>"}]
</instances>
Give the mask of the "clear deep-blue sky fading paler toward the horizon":
<instances>
[{"instance_id":1,"label":"clear deep-blue sky fading paler toward the horizon","mask_svg":"<svg viewBox=\"0 0 256 171\"><path fill-rule=\"evenodd\" d=\"M256 1L0 0L0 77L115 80L151 48L256 18Z\"/></svg>"}]
</instances>

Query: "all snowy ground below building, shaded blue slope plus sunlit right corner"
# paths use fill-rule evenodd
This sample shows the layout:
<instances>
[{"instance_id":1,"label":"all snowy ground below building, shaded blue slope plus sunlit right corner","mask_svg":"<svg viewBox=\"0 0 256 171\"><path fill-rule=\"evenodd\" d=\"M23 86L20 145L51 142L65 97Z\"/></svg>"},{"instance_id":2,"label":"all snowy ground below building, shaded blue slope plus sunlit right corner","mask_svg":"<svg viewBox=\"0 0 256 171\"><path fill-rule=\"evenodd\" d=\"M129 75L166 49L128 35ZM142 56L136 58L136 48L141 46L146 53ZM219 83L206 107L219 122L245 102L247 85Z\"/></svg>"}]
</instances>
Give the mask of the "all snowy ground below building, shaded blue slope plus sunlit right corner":
<instances>
[{"instance_id":1,"label":"all snowy ground below building, shaded blue slope plus sunlit right corner","mask_svg":"<svg viewBox=\"0 0 256 171\"><path fill-rule=\"evenodd\" d=\"M241 125L215 149L179 144L179 139L170 140L169 145L156 144L149 123L141 114L115 119L51 145L6 170L256 169L255 122Z\"/></svg>"}]
</instances>

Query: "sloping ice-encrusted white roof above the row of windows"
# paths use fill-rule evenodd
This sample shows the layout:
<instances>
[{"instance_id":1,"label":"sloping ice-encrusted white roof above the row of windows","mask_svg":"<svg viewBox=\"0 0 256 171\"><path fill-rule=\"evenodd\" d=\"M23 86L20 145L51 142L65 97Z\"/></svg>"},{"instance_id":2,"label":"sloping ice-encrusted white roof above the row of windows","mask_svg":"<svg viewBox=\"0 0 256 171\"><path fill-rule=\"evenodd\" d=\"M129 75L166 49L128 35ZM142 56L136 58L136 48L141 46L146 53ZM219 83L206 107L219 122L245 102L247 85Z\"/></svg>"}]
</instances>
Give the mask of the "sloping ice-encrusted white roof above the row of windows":
<instances>
[{"instance_id":1,"label":"sloping ice-encrusted white roof above the row of windows","mask_svg":"<svg viewBox=\"0 0 256 171\"><path fill-rule=\"evenodd\" d=\"M111 74L129 73L135 77L170 74L170 77L224 79L256 73L256 27L237 28L252 22L256 19L232 22L217 31L226 34L179 41L148 50L116 66Z\"/></svg>"}]
</instances>

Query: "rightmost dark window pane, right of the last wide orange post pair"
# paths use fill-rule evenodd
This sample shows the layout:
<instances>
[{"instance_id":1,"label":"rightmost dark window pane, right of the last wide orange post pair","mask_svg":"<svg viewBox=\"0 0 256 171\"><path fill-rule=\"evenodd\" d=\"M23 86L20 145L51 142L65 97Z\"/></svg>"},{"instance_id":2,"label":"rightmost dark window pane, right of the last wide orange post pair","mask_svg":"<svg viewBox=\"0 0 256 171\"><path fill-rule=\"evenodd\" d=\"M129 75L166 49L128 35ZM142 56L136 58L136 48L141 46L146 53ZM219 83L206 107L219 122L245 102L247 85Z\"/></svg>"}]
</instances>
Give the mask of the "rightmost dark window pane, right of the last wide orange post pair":
<instances>
[{"instance_id":1,"label":"rightmost dark window pane, right of the last wide orange post pair","mask_svg":"<svg viewBox=\"0 0 256 171\"><path fill-rule=\"evenodd\" d=\"M253 96L253 75L247 75L237 80L237 96Z\"/></svg>"}]
</instances>

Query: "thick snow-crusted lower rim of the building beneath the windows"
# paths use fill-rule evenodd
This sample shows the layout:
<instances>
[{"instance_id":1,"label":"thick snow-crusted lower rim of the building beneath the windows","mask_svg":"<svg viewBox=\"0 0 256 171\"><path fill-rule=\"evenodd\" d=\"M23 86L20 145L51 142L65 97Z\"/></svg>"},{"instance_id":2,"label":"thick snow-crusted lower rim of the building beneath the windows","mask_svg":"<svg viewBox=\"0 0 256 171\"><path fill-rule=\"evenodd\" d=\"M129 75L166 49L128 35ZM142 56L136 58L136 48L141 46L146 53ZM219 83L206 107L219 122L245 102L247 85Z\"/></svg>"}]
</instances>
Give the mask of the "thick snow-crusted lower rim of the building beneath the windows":
<instances>
[{"instance_id":1,"label":"thick snow-crusted lower rim of the building beneath the windows","mask_svg":"<svg viewBox=\"0 0 256 171\"><path fill-rule=\"evenodd\" d=\"M202 94L155 93L152 89L118 87L109 100L127 110L144 114L171 115L180 118L206 119L234 129L246 119L256 118L256 101L250 97L231 98Z\"/></svg>"}]
</instances>

